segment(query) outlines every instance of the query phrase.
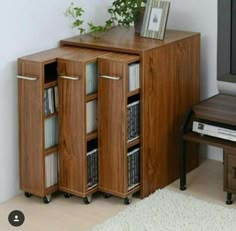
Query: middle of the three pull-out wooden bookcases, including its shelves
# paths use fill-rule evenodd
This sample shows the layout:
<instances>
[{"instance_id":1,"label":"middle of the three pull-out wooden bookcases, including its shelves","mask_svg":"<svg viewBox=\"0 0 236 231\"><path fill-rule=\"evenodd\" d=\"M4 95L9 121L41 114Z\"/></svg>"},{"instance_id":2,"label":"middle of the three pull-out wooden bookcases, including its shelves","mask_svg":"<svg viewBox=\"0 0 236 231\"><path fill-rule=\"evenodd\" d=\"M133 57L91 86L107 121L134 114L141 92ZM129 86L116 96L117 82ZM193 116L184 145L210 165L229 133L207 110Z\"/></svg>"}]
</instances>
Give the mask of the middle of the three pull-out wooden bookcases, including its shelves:
<instances>
[{"instance_id":1,"label":"middle of the three pull-out wooden bookcases, including its shelves","mask_svg":"<svg viewBox=\"0 0 236 231\"><path fill-rule=\"evenodd\" d=\"M65 197L71 194L83 197L85 203L90 203L98 185L97 174L90 173L90 170L98 172L97 161L87 153L97 149L96 159L100 155L97 144L97 58L106 53L79 49L58 58L59 189ZM97 179L89 179L88 175Z\"/></svg>"}]
</instances>

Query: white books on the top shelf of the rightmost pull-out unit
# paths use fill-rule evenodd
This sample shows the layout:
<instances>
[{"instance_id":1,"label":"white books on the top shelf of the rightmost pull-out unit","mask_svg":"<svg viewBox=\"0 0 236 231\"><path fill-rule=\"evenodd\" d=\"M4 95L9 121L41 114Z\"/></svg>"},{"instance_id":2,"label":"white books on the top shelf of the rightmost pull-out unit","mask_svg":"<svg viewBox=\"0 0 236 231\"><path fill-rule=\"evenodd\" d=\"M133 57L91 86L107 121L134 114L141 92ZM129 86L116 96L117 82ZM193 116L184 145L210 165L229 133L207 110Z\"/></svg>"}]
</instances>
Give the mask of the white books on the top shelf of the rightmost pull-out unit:
<instances>
[{"instance_id":1,"label":"white books on the top shelf of the rightmost pull-out unit","mask_svg":"<svg viewBox=\"0 0 236 231\"><path fill-rule=\"evenodd\" d=\"M140 88L140 64L129 65L128 91Z\"/></svg>"}]
</instances>

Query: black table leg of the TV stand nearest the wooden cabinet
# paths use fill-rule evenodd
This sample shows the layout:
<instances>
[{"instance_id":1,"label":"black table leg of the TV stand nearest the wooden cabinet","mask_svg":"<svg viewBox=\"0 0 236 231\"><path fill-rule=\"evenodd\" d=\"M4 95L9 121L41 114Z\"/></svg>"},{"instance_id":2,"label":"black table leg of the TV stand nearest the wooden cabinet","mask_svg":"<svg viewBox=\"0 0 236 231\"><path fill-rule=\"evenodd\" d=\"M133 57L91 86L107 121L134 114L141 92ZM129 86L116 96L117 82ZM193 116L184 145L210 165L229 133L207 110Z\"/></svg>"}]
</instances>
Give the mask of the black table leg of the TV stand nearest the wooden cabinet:
<instances>
[{"instance_id":1,"label":"black table leg of the TV stand nearest the wooden cabinet","mask_svg":"<svg viewBox=\"0 0 236 231\"><path fill-rule=\"evenodd\" d=\"M180 190L184 191L186 187L186 142L183 140L181 144L180 154Z\"/></svg>"}]
</instances>

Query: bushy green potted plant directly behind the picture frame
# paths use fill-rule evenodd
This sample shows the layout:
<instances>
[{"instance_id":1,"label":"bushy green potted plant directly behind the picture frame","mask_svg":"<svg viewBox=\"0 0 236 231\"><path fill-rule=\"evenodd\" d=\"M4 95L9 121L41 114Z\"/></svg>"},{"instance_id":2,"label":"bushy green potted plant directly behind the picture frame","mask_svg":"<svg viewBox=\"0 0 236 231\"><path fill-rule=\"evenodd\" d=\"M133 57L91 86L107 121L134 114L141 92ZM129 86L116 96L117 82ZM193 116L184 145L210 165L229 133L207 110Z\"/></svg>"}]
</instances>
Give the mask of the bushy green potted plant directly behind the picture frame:
<instances>
[{"instance_id":1,"label":"bushy green potted plant directly behind the picture frame","mask_svg":"<svg viewBox=\"0 0 236 231\"><path fill-rule=\"evenodd\" d=\"M146 0L115 0L108 12L113 22L127 26L134 24L135 31L140 32Z\"/></svg>"}]
</instances>

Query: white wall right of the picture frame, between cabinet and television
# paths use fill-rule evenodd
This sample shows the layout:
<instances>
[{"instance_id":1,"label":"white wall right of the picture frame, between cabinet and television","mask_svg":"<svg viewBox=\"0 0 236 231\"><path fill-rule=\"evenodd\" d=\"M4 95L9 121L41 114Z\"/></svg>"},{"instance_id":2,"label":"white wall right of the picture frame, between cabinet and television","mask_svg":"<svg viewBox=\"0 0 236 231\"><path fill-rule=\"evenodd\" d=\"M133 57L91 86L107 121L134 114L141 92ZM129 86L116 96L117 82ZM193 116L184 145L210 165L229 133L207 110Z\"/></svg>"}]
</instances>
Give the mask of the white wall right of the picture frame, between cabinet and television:
<instances>
[{"instance_id":1,"label":"white wall right of the picture frame, between cabinet and television","mask_svg":"<svg viewBox=\"0 0 236 231\"><path fill-rule=\"evenodd\" d=\"M172 0L168 28L201 33L201 99L217 91L217 1ZM208 146L207 157L222 160L222 149Z\"/></svg>"}]
</instances>

